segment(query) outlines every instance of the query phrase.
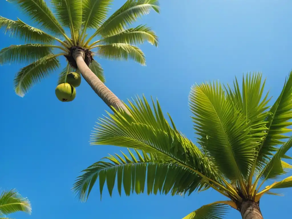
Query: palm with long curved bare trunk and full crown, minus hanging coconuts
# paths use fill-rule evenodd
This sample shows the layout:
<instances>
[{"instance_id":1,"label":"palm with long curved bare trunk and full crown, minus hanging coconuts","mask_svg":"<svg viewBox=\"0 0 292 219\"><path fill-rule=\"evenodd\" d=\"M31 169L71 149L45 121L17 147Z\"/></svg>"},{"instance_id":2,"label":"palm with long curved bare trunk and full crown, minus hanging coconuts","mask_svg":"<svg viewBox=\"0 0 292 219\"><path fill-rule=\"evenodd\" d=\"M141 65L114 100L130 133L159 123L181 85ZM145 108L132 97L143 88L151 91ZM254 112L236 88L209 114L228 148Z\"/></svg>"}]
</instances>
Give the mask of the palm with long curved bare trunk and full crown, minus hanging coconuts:
<instances>
[{"instance_id":1,"label":"palm with long curved bare trunk and full crown, minus hanging coconuts","mask_svg":"<svg viewBox=\"0 0 292 219\"><path fill-rule=\"evenodd\" d=\"M44 0L9 2L17 4L40 26L37 29L19 18L10 20L0 16L0 28L27 43L0 51L0 65L30 62L15 76L15 92L18 95L24 96L34 84L58 69L58 58L64 56L68 64L60 73L58 84L67 82L66 76L72 68L78 69L108 106L125 109L117 96L104 85L103 69L93 55L110 60L133 59L145 65L145 55L135 45L148 41L157 46L157 36L146 25L127 27L137 18L148 14L150 9L159 13L158 0L128 0L107 19L112 0L51 0L56 16ZM70 35L66 33L67 30ZM94 30L94 33L88 36L90 30ZM75 89L72 86L68 88L70 92L72 90L72 95Z\"/></svg>"}]
</instances>

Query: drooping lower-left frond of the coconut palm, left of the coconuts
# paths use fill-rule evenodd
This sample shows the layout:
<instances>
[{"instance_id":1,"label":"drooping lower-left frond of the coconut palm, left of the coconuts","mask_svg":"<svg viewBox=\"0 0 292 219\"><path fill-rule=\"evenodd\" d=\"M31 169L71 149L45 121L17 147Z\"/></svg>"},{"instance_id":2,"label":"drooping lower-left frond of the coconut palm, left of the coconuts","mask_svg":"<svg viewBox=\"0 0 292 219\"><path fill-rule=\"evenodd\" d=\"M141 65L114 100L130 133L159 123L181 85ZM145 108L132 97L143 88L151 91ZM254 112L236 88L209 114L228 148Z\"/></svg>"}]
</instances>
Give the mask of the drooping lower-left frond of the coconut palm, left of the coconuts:
<instances>
[{"instance_id":1,"label":"drooping lower-left frond of the coconut palm, left of the coconuts","mask_svg":"<svg viewBox=\"0 0 292 219\"><path fill-rule=\"evenodd\" d=\"M57 56L47 55L21 68L14 78L15 93L23 97L29 88L56 70L60 66Z\"/></svg>"}]
</instances>

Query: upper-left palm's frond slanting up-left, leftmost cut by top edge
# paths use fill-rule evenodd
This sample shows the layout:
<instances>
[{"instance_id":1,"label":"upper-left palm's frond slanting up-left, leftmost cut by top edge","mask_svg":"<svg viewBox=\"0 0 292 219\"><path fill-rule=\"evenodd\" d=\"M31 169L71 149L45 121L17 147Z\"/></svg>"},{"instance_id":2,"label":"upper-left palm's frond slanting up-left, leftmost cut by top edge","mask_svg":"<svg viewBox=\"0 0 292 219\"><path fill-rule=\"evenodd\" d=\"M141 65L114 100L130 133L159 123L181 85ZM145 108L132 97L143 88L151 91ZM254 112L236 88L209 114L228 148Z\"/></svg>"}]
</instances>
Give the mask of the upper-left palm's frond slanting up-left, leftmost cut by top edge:
<instances>
[{"instance_id":1,"label":"upper-left palm's frond slanting up-left, leftmost cut by top edge","mask_svg":"<svg viewBox=\"0 0 292 219\"><path fill-rule=\"evenodd\" d=\"M65 35L65 31L53 15L44 0L8 0L16 3L26 14L38 22L41 27L57 35Z\"/></svg>"}]
</instances>

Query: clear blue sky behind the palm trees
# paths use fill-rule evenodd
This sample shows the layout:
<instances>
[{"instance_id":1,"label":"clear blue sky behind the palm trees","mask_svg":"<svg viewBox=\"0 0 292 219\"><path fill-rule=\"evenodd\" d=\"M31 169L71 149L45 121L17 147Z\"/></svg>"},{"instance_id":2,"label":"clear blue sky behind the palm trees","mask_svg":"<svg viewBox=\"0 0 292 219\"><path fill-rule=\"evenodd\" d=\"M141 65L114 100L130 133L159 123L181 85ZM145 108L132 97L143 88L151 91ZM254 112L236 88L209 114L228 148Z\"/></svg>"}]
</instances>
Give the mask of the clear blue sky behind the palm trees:
<instances>
[{"instance_id":1,"label":"clear blue sky behind the palm trees","mask_svg":"<svg viewBox=\"0 0 292 219\"><path fill-rule=\"evenodd\" d=\"M231 83L234 76L260 71L267 78L266 90L274 97L279 95L292 68L291 1L160 2L160 15L152 11L138 22L151 26L159 36L158 48L141 46L146 67L132 61L98 59L105 70L107 86L119 98L126 100L142 93L147 98L158 97L177 128L195 141L188 109L192 84L213 79ZM116 0L112 8L123 3L124 0ZM0 15L33 24L7 1L1 1ZM21 44L4 34L0 34L0 42L1 48ZM61 64L65 67L65 58L61 58ZM32 203L32 215L17 213L11 217L176 219L201 205L224 200L212 190L190 197L119 197L115 190L112 198L104 190L100 201L95 187L89 200L80 203L70 190L79 171L107 153L120 150L88 143L95 121L105 114L107 106L84 80L73 102L60 102L54 93L58 72L20 98L14 93L13 77L22 66L0 66L0 187L17 188ZM288 155L292 155L291 151ZM285 197L261 199L265 219L288 218L292 189L285 191ZM240 218L240 214L230 210L227 218Z\"/></svg>"}]
</instances>

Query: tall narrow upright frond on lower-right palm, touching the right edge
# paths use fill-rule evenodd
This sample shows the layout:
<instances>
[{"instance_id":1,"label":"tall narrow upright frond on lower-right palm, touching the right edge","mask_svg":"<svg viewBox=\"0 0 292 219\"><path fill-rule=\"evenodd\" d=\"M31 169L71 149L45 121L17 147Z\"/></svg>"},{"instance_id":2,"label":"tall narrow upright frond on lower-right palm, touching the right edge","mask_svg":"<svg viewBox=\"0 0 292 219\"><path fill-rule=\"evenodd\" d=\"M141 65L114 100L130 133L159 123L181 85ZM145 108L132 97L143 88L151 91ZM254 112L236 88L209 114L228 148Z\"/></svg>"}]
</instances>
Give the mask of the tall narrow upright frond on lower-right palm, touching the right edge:
<instances>
[{"instance_id":1,"label":"tall narrow upright frond on lower-right palm, touching the right edge","mask_svg":"<svg viewBox=\"0 0 292 219\"><path fill-rule=\"evenodd\" d=\"M258 166L262 166L269 160L272 152L276 151L276 145L283 144L281 139L288 138L283 135L290 132L287 128L292 124L289 120L292 119L292 72L290 72L288 79L286 79L284 87L278 99L271 107L267 117L267 135L260 145L260 150L257 157ZM284 154L283 154L284 155Z\"/></svg>"}]
</instances>

